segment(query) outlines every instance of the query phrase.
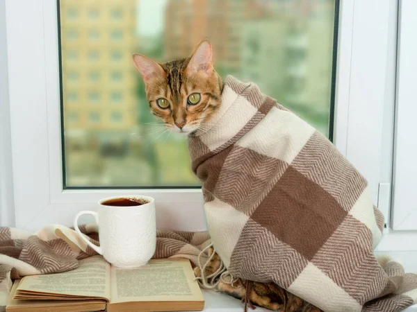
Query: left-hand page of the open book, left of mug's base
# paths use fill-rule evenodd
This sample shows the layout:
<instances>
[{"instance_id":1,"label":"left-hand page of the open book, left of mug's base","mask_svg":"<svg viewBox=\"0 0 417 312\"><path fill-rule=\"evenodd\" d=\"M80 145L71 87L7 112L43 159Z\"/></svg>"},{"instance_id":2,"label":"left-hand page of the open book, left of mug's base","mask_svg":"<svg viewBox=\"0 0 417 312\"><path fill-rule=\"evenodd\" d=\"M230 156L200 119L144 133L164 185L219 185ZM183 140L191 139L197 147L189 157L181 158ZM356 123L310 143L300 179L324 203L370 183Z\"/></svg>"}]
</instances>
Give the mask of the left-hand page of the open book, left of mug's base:
<instances>
[{"instance_id":1,"label":"left-hand page of the open book, left of mug's base","mask_svg":"<svg viewBox=\"0 0 417 312\"><path fill-rule=\"evenodd\" d=\"M26 276L20 281L19 291L54 293L80 297L103 297L110 299L110 264L101 256L80 261L79 268L71 271Z\"/></svg>"}]
</instances>

